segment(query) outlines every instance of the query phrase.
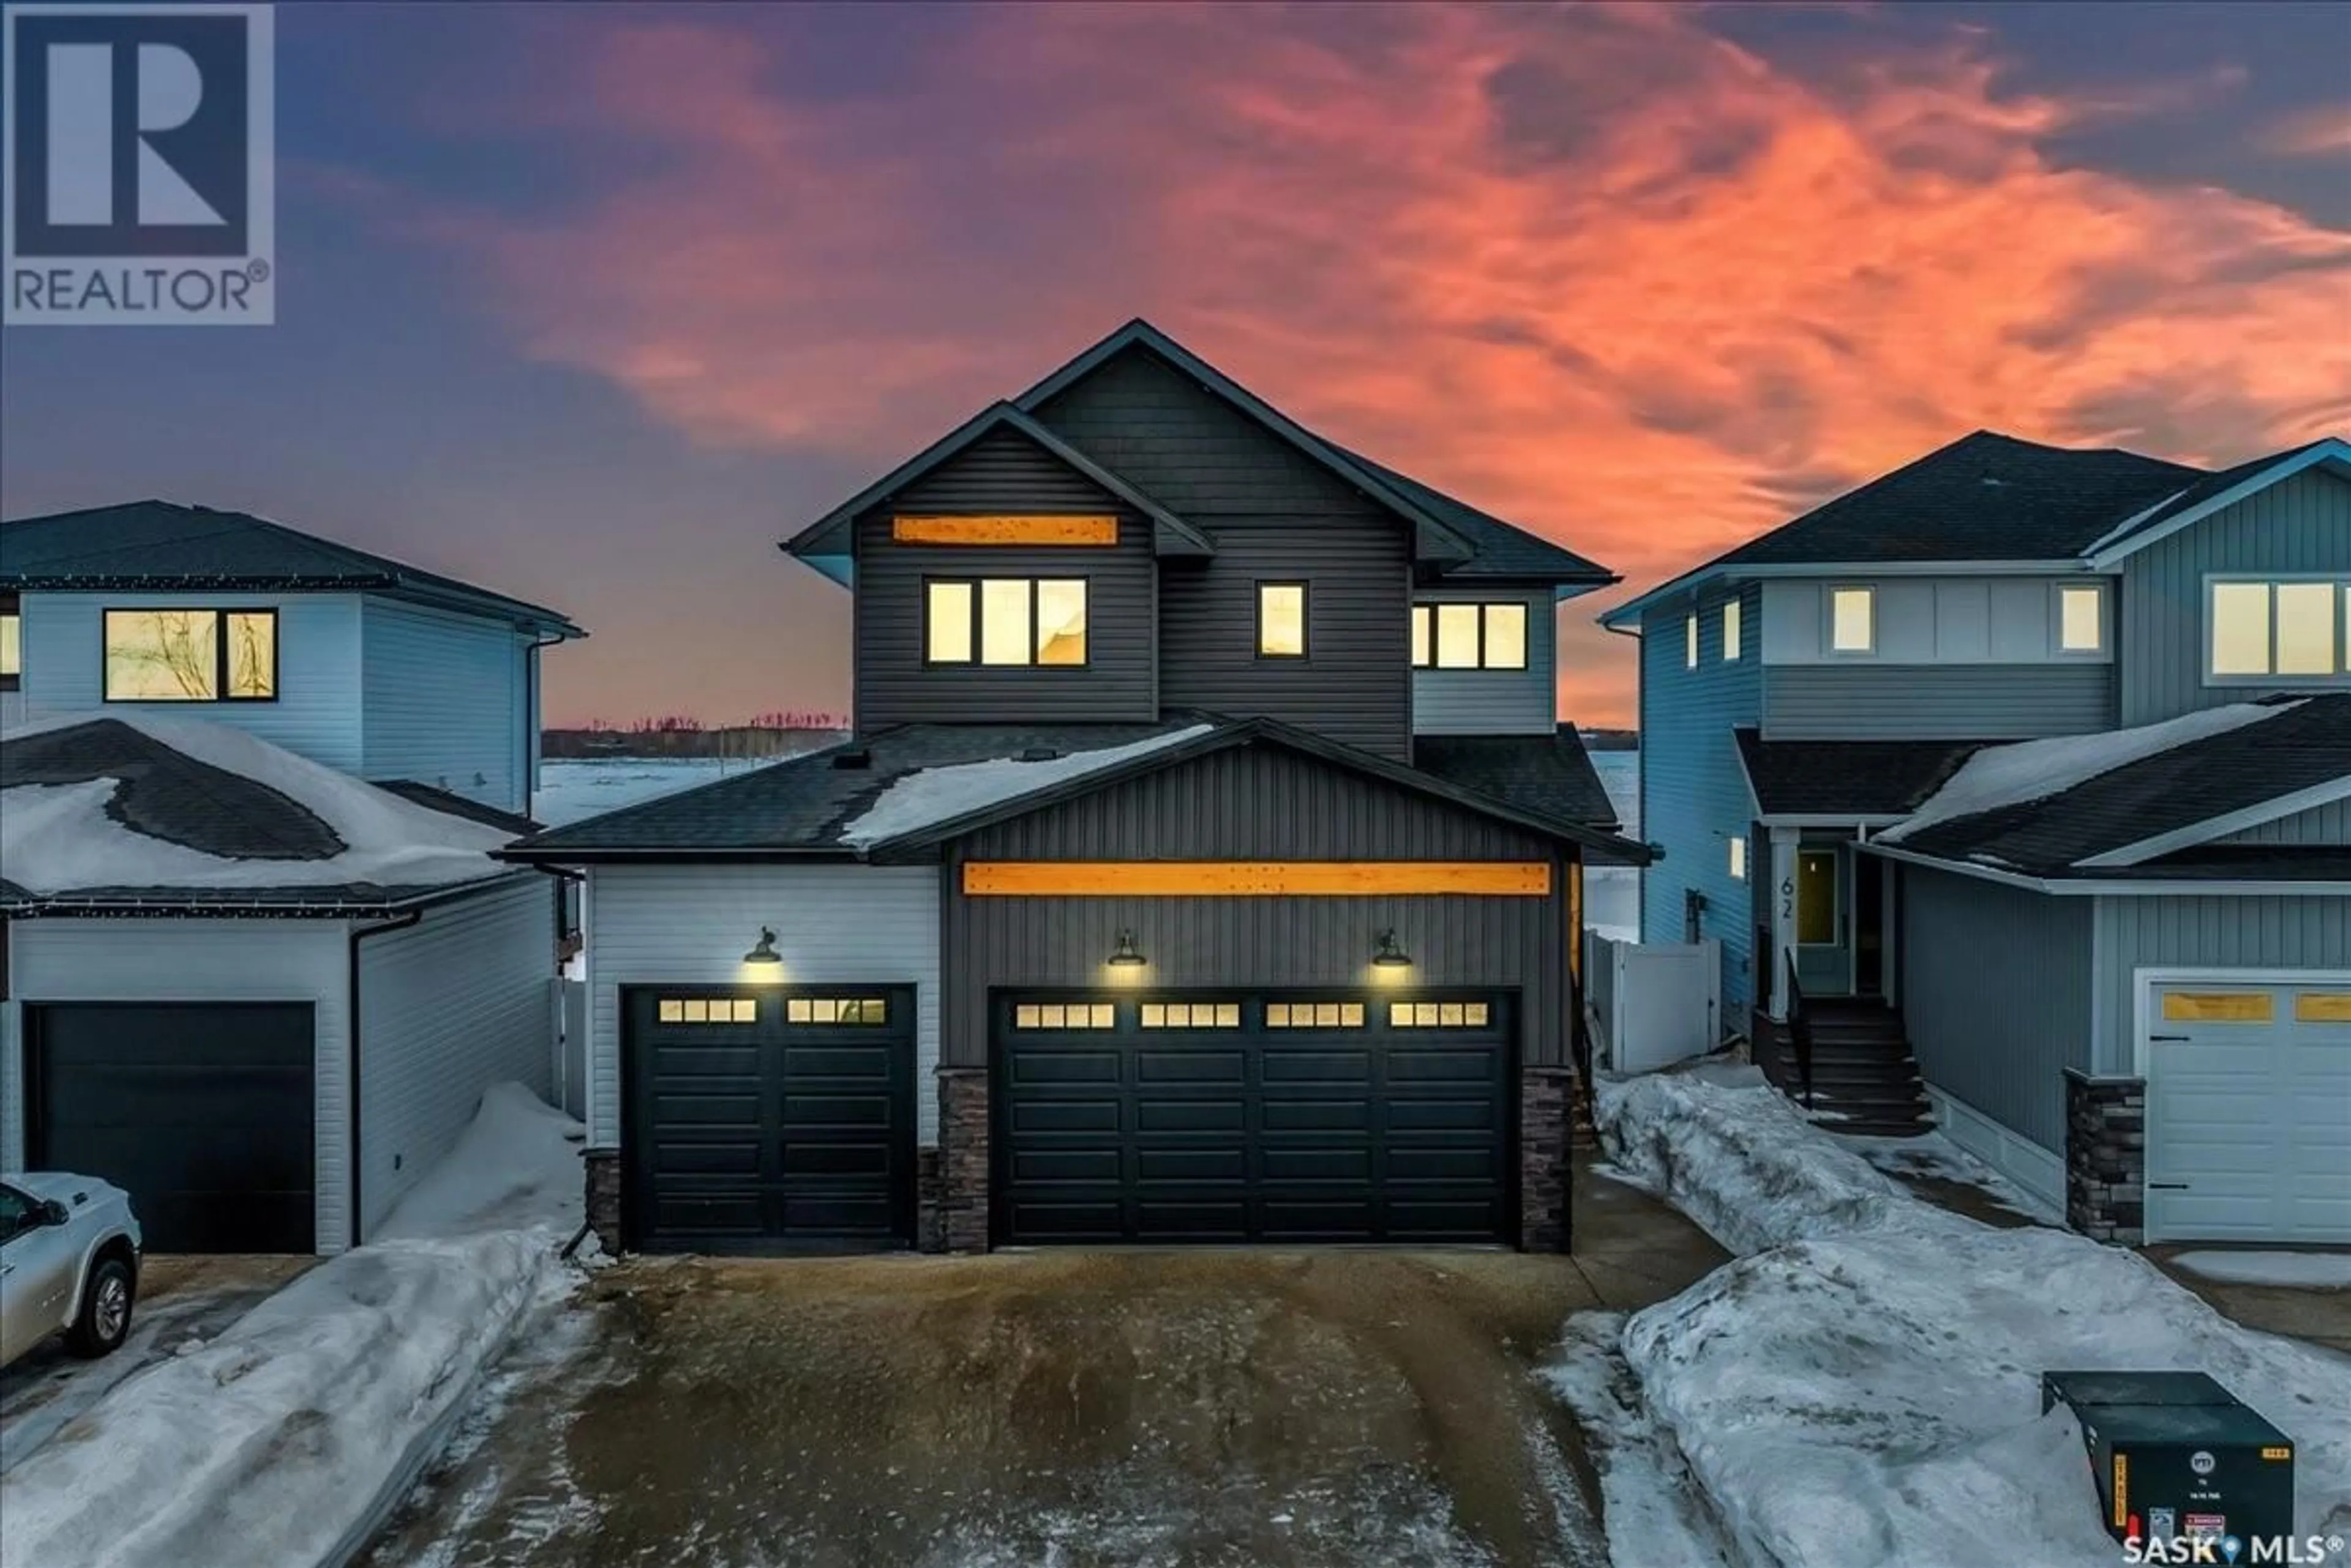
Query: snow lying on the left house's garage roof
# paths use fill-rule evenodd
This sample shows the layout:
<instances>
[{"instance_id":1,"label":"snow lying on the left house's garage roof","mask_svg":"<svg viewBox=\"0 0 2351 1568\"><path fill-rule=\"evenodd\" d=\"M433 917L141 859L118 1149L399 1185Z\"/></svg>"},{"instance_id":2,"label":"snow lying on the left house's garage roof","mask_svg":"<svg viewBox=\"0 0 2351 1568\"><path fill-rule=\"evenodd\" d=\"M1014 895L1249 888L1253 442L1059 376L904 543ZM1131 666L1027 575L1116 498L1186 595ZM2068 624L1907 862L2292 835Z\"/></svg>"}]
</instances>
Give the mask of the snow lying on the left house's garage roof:
<instances>
[{"instance_id":1,"label":"snow lying on the left house's garage roof","mask_svg":"<svg viewBox=\"0 0 2351 1568\"><path fill-rule=\"evenodd\" d=\"M73 712L9 729L0 745L99 717L277 790L327 823L343 851L322 860L209 856L118 823L106 806L122 780L92 778L0 790L0 879L54 896L85 889L458 886L513 870L489 858L513 839L503 827L418 806L228 724L136 710Z\"/></svg>"}]
</instances>

